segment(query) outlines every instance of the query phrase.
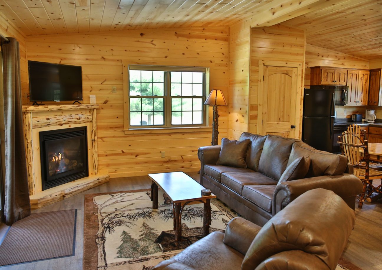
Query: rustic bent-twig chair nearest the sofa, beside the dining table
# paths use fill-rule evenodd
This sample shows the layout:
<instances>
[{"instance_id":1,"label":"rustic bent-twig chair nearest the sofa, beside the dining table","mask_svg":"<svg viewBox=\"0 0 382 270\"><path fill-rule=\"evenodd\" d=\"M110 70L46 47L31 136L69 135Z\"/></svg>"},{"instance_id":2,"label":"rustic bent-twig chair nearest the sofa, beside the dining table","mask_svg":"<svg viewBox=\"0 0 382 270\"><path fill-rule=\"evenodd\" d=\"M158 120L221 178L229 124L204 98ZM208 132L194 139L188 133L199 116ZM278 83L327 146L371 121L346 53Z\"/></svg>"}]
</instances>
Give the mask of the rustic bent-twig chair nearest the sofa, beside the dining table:
<instances>
[{"instance_id":1,"label":"rustic bent-twig chair nearest the sofa, beside the dining table","mask_svg":"<svg viewBox=\"0 0 382 270\"><path fill-rule=\"evenodd\" d=\"M338 136L338 143L340 144L342 154L353 165L354 175L363 183L362 193L357 196L359 199L358 208L362 208L363 202L372 196L373 192L382 193L382 184L377 187L374 187L372 184L372 179L382 178L382 171L370 168L367 140L363 140L361 137L348 131L343 132L342 136ZM363 151L360 151L360 149L363 149ZM363 152L362 155L361 152Z\"/></svg>"}]
</instances>

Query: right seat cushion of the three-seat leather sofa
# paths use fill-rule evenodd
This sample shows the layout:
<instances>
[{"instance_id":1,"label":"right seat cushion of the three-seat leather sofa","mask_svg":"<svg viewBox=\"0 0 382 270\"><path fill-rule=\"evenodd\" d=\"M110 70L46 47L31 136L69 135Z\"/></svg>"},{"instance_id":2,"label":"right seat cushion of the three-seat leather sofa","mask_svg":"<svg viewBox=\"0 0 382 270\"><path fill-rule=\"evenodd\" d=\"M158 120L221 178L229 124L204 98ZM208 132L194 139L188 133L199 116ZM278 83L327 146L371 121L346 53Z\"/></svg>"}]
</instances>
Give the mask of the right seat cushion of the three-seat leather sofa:
<instances>
[{"instance_id":1,"label":"right seat cushion of the three-seat leather sofa","mask_svg":"<svg viewBox=\"0 0 382 270\"><path fill-rule=\"evenodd\" d=\"M272 211L272 197L275 192L276 185L251 185L244 186L243 197L265 211Z\"/></svg>"}]
</instances>

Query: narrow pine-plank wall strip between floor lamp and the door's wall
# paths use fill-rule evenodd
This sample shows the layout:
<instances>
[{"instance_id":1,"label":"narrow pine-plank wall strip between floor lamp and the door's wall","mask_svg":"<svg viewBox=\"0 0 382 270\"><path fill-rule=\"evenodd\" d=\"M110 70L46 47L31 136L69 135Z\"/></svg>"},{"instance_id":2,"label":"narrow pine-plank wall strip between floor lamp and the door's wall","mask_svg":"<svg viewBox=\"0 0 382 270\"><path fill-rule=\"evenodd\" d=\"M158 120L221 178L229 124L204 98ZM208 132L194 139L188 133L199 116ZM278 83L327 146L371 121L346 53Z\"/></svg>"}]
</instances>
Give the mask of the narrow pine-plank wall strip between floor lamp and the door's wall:
<instances>
[{"instance_id":1,"label":"narrow pine-plank wall strip between floor lamp and the door's wall","mask_svg":"<svg viewBox=\"0 0 382 270\"><path fill-rule=\"evenodd\" d=\"M249 37L250 22L243 20L230 27L230 99L228 137L239 139L248 131Z\"/></svg>"}]
</instances>

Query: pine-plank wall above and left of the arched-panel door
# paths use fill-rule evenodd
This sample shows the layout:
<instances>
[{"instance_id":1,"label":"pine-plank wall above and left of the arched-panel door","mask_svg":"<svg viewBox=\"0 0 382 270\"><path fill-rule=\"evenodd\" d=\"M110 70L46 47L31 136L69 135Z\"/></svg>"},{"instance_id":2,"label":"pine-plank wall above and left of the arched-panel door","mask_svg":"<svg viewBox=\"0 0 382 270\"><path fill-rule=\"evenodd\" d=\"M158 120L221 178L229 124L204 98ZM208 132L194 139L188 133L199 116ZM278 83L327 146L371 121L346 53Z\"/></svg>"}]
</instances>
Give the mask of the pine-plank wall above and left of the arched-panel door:
<instances>
[{"instance_id":1,"label":"pine-plank wall above and left of the arched-panel door","mask_svg":"<svg viewBox=\"0 0 382 270\"><path fill-rule=\"evenodd\" d=\"M249 132L257 133L259 60L296 62L301 63L301 66L303 66L304 50L305 33L303 30L281 24L251 29ZM272 104L271 100L269 102L269 104ZM301 114L301 112L296 113ZM299 131L299 138L301 138L301 129Z\"/></svg>"}]
</instances>

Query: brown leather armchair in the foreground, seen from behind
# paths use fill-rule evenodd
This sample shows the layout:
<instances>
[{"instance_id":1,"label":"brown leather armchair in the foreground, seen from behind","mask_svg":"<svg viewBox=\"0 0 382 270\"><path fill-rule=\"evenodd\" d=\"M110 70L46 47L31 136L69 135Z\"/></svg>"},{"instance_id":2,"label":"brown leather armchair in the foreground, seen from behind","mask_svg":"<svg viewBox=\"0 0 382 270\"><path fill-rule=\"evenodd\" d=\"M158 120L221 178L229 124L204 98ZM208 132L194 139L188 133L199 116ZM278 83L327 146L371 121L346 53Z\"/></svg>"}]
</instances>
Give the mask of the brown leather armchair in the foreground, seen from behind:
<instances>
[{"instance_id":1,"label":"brown leather armchair in the foreground, seen from behind","mask_svg":"<svg viewBox=\"0 0 382 270\"><path fill-rule=\"evenodd\" d=\"M339 196L314 189L262 228L233 218L225 233L210 233L154 269L335 269L354 221L354 211Z\"/></svg>"}]
</instances>

